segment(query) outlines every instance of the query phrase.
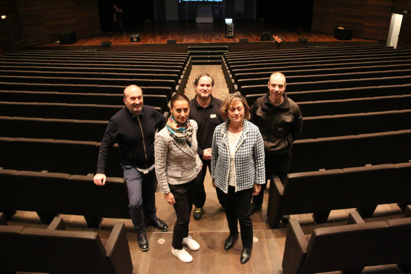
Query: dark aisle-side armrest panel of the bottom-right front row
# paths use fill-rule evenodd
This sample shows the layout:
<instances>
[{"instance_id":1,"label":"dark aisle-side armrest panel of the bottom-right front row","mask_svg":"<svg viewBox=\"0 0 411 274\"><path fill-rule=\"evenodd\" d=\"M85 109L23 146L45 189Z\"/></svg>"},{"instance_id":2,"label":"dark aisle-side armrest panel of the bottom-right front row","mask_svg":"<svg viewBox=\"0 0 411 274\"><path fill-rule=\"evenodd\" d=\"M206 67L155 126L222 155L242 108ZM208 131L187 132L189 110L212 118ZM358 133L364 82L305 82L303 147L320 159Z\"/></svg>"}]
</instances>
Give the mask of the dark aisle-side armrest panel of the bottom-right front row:
<instances>
[{"instance_id":1,"label":"dark aisle-side armrest panel of the bottom-right front row","mask_svg":"<svg viewBox=\"0 0 411 274\"><path fill-rule=\"evenodd\" d=\"M290 219L282 261L283 272L287 274L299 273L307 255L307 239L297 219Z\"/></svg>"}]
</instances>

